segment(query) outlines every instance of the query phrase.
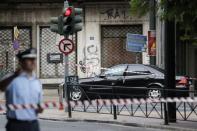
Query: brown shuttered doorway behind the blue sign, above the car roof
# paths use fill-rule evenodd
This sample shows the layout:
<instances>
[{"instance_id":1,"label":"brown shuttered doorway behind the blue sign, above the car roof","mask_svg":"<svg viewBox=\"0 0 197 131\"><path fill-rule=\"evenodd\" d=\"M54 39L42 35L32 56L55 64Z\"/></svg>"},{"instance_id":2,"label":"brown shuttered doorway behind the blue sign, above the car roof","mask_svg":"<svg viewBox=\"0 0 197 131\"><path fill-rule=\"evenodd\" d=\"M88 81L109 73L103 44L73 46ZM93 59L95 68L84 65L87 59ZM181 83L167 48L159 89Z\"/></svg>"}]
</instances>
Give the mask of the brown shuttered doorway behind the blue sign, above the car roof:
<instances>
[{"instance_id":1,"label":"brown shuttered doorway behind the blue sign, above the car roof","mask_svg":"<svg viewBox=\"0 0 197 131\"><path fill-rule=\"evenodd\" d=\"M127 33L142 34L142 25L101 26L101 66L136 63L136 53L126 51ZM140 54L139 63L142 63Z\"/></svg>"}]
</instances>

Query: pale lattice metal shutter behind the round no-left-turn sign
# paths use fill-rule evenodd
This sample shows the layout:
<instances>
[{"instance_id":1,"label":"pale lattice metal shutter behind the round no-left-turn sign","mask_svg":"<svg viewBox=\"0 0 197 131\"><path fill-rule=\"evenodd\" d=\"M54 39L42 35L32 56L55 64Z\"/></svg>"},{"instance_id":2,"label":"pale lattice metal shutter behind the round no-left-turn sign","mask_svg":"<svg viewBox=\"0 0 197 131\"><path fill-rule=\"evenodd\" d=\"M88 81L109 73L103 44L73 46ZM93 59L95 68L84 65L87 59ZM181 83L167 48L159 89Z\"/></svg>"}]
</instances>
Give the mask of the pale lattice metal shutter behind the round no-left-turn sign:
<instances>
[{"instance_id":1,"label":"pale lattice metal shutter behind the round no-left-turn sign","mask_svg":"<svg viewBox=\"0 0 197 131\"><path fill-rule=\"evenodd\" d=\"M64 61L60 64L52 64L47 62L47 54L60 53L58 49L59 41L62 37L51 32L48 26L40 27L40 78L63 78L64 77ZM76 36L71 38L76 44ZM69 55L69 62L76 63L76 49ZM66 65L67 66L67 65ZM76 75L75 66L69 65L69 75Z\"/></svg>"}]
</instances>

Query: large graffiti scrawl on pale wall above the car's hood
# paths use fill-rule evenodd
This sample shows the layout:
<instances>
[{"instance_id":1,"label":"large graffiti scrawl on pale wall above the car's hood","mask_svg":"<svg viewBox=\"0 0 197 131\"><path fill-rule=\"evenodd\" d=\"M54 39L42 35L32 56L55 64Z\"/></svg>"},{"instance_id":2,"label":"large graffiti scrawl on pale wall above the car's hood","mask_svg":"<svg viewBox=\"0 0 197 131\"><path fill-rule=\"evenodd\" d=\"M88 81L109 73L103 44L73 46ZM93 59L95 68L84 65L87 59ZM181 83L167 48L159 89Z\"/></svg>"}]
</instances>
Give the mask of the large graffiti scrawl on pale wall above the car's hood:
<instances>
[{"instance_id":1,"label":"large graffiti scrawl on pale wall above the car's hood","mask_svg":"<svg viewBox=\"0 0 197 131\"><path fill-rule=\"evenodd\" d=\"M83 60L79 61L80 70L87 74L88 77L93 77L98 74L100 66L99 47L90 42L83 49Z\"/></svg>"}]
</instances>

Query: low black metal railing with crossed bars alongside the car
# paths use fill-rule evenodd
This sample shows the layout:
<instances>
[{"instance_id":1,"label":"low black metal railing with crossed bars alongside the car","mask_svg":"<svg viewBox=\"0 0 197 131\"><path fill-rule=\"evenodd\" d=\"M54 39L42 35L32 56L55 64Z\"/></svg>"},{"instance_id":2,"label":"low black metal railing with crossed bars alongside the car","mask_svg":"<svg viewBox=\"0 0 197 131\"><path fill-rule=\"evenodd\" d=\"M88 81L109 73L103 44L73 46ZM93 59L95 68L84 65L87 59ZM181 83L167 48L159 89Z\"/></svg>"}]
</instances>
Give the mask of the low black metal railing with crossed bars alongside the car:
<instances>
[{"instance_id":1,"label":"low black metal railing with crossed bars alongside the car","mask_svg":"<svg viewBox=\"0 0 197 131\"><path fill-rule=\"evenodd\" d=\"M106 88L111 88L116 89L116 88L123 88L120 86L102 86L102 85L82 85L82 84L70 84L68 85L69 92L72 92L72 90L75 90L76 88L89 88L89 87L100 87L103 89ZM75 88L75 89L73 89ZM147 88L137 88L139 90L145 90L148 91L150 90ZM154 88L155 89L155 88ZM183 97L186 98L186 96L194 96L197 95L196 91L189 91L189 90L180 90L180 89L175 89L175 90L170 90L170 89L161 89L159 88L158 90L161 90L162 92L166 93L172 93L174 92L176 95L178 94L179 96L176 96L177 98L181 99ZM112 91L113 92L113 91ZM87 92L83 90L83 93L85 94L85 97L83 98L86 101L89 101L91 103L91 100L94 99L96 101L100 99L108 99L106 98L107 95L113 96L109 97L109 99L121 99L120 96L124 96L123 94L118 94L118 93L102 93L102 92ZM186 95L184 95L186 94ZM95 97L92 98L92 95ZM183 97L182 97L183 95ZM69 97L70 97L69 93ZM102 97L105 96L105 97ZM162 96L163 97L163 96ZM124 98L135 98L135 96L132 95L125 95ZM191 97L192 98L192 97ZM147 99L147 96L144 96L143 98L137 98L139 99ZM114 118L117 117L117 115L126 115L126 116L135 116L135 117L145 117L145 118L157 118L157 119L164 119L164 104L163 102L154 102L154 103L135 103L135 104L126 104L126 105L106 105L103 104L101 105L100 103L97 102L96 105L92 104L83 104L81 106L74 106L72 107L72 111L78 111L78 112L88 112L88 113L103 113L103 114L115 114ZM187 121L197 121L197 103L192 103L192 102L176 102L176 116L177 120L187 120Z\"/></svg>"}]
</instances>

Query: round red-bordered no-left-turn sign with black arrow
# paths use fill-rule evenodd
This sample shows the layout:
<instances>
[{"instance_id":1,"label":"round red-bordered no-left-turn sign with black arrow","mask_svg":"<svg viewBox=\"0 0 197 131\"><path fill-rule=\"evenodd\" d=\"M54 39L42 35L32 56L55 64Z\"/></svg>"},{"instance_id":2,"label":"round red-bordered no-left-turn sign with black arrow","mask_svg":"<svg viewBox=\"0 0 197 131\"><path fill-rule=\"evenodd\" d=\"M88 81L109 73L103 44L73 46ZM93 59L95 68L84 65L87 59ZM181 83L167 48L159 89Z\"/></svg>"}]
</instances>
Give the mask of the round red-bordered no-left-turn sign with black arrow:
<instances>
[{"instance_id":1,"label":"round red-bordered no-left-turn sign with black arrow","mask_svg":"<svg viewBox=\"0 0 197 131\"><path fill-rule=\"evenodd\" d=\"M74 51L74 43L70 39L62 39L59 42L59 50L65 55L69 55Z\"/></svg>"}]
</instances>

